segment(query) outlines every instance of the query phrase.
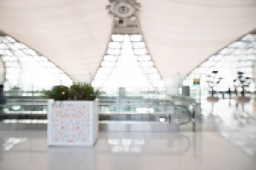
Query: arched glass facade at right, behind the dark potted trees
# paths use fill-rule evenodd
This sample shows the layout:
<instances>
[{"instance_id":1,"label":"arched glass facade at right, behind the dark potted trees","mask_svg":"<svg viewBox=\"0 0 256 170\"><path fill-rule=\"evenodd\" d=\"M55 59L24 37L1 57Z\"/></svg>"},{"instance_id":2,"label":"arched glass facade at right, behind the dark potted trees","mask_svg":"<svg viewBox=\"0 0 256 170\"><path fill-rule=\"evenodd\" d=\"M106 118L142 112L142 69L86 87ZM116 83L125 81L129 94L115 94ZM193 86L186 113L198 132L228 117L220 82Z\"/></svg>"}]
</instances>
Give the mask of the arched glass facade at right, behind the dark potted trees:
<instances>
[{"instance_id":1,"label":"arched glass facade at right, behind the dark potted trees","mask_svg":"<svg viewBox=\"0 0 256 170\"><path fill-rule=\"evenodd\" d=\"M209 75L218 71L216 78L223 78L216 85L215 90L227 91L234 88L234 79L238 78L237 72L243 72L244 77L254 80L254 63L256 59L256 34L247 34L240 40L231 43L217 54L209 57L205 62L195 68L183 81L184 85L193 85L193 79L200 78L201 89L207 90ZM250 84L250 91L255 90L255 83Z\"/></svg>"}]
</instances>

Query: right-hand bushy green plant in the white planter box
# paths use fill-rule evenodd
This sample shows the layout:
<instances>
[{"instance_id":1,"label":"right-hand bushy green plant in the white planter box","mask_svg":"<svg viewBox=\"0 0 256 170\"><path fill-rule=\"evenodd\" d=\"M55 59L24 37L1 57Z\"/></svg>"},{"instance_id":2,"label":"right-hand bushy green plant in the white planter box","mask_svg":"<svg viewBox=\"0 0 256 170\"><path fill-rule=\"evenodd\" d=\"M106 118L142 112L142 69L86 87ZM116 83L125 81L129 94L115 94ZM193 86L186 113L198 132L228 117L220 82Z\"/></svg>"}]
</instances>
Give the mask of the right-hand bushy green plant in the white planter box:
<instances>
[{"instance_id":1,"label":"right-hand bushy green plant in the white planter box","mask_svg":"<svg viewBox=\"0 0 256 170\"><path fill-rule=\"evenodd\" d=\"M71 100L95 100L99 96L99 91L87 83L78 82L70 87Z\"/></svg>"}]
</instances>

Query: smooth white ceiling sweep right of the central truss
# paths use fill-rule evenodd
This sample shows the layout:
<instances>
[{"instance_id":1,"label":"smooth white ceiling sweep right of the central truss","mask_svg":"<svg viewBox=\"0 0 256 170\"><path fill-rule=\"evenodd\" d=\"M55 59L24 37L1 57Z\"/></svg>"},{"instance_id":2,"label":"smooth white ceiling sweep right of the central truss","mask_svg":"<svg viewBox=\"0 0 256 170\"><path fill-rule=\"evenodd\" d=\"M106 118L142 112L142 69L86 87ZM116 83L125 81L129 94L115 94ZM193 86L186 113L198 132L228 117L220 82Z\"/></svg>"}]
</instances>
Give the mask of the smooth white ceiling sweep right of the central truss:
<instances>
[{"instance_id":1,"label":"smooth white ceiling sweep right of the central truss","mask_svg":"<svg viewBox=\"0 0 256 170\"><path fill-rule=\"evenodd\" d=\"M256 28L256 0L140 0L144 39L163 78L186 75Z\"/></svg>"}]
</instances>

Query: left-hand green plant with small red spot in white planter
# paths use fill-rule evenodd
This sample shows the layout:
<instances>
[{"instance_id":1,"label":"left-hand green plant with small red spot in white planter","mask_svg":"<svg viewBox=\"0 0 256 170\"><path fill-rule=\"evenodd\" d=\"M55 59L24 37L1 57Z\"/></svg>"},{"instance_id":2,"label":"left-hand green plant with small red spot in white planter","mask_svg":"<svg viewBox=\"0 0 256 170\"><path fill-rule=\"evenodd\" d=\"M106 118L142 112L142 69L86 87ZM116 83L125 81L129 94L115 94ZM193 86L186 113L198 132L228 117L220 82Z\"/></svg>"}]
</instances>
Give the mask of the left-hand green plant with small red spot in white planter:
<instances>
[{"instance_id":1,"label":"left-hand green plant with small red spot in white planter","mask_svg":"<svg viewBox=\"0 0 256 170\"><path fill-rule=\"evenodd\" d=\"M68 100L70 96L69 88L62 85L53 86L50 90L44 90L42 93L47 98L54 100Z\"/></svg>"}]
</instances>

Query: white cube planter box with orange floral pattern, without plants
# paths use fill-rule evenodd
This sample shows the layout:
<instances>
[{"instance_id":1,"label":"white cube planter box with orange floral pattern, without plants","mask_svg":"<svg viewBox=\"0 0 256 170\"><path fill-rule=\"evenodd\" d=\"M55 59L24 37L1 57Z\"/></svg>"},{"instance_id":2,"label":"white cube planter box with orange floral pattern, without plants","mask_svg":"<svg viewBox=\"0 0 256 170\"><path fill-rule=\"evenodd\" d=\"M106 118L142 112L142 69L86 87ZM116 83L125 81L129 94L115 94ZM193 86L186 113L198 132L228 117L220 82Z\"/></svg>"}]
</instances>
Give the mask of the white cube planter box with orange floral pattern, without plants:
<instances>
[{"instance_id":1,"label":"white cube planter box with orange floral pattern, without plants","mask_svg":"<svg viewBox=\"0 0 256 170\"><path fill-rule=\"evenodd\" d=\"M49 146L93 146L98 138L98 101L48 101Z\"/></svg>"}]
</instances>

